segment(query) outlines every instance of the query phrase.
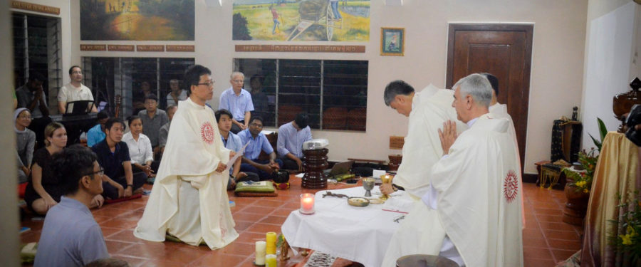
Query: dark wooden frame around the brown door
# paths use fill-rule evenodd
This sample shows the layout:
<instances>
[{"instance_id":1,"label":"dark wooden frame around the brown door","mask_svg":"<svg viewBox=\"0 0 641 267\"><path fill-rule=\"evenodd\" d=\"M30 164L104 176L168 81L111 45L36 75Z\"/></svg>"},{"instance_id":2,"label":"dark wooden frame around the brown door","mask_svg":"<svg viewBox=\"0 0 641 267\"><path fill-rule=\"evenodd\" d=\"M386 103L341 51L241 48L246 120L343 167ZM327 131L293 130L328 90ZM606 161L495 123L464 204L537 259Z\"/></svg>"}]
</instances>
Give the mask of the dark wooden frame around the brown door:
<instances>
[{"instance_id":1,"label":"dark wooden frame around the brown door","mask_svg":"<svg viewBox=\"0 0 641 267\"><path fill-rule=\"evenodd\" d=\"M447 68L445 69L445 88L452 88L455 81L452 80L454 73L454 38L457 31L523 31L526 35L524 63L523 63L523 88L521 89L521 103L526 108L527 120L520 120L518 125L514 125L516 129L525 129L523 136L523 150L519 149L521 159L521 174L525 178L523 171L525 170L525 155L527 150L528 140L528 120L529 120L529 105L530 105L530 77L532 65L532 46L533 46L533 31L534 23L448 23L447 31ZM453 89L453 88L452 88ZM518 147L518 144L516 144ZM528 177L532 179L533 177Z\"/></svg>"}]
</instances>

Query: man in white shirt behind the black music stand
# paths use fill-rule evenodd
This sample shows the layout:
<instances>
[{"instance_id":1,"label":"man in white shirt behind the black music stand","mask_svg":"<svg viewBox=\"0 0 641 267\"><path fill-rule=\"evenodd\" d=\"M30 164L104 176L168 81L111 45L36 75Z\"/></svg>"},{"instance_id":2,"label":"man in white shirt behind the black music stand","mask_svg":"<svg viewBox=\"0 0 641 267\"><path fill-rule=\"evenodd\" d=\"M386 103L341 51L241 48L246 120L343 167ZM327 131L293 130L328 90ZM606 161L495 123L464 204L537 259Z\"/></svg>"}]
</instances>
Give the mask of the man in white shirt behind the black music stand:
<instances>
[{"instance_id":1,"label":"man in white shirt behind the black music stand","mask_svg":"<svg viewBox=\"0 0 641 267\"><path fill-rule=\"evenodd\" d=\"M71 78L71 83L63 85L63 87L58 90L58 111L61 114L68 111L68 102L79 100L93 101L93 94L91 93L91 90L87 86L83 85L83 70L80 66L71 66L71 68L69 68L69 78ZM90 105L91 112L98 112L95 105Z\"/></svg>"}]
</instances>

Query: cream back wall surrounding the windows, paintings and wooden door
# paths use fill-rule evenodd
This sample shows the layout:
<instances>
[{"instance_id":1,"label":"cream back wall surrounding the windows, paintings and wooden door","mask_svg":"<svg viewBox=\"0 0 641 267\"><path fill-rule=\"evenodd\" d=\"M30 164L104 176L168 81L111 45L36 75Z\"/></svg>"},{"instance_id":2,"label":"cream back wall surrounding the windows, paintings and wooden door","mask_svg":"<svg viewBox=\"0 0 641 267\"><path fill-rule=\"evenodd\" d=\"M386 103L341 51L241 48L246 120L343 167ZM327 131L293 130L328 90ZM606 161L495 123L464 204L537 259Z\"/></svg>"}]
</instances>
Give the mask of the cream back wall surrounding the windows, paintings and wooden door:
<instances>
[{"instance_id":1,"label":"cream back wall surrounding the windows, paintings and wooden door","mask_svg":"<svg viewBox=\"0 0 641 267\"><path fill-rule=\"evenodd\" d=\"M35 1L35 0L33 0ZM407 119L387 108L382 101L385 85L402 79L424 88L429 83L444 87L447 61L447 27L449 22L533 23L533 58L531 68L530 104L526 172L536 173L533 163L550 157L552 121L561 115L570 116L572 107L580 104L583 81L583 51L587 0L405 0L403 6L385 6L385 1L371 1L370 40L368 42L337 42L331 44L364 45L365 53L236 53L235 44L274 44L269 41L231 41L231 1L222 6L208 7L196 0L196 38L194 42L111 41L80 42L79 4L72 1L71 61L81 56L167 56L194 57L196 63L212 69L217 107L218 95L229 88L233 58L319 58L367 60L368 80L367 132L313 131L314 137L330 140L329 159L348 157L387 159L399 153L390 150L390 135L405 135ZM405 28L405 56L379 56L380 27ZM194 53L109 53L78 51L80 43L195 44ZM328 44L301 42L291 44Z\"/></svg>"}]
</instances>

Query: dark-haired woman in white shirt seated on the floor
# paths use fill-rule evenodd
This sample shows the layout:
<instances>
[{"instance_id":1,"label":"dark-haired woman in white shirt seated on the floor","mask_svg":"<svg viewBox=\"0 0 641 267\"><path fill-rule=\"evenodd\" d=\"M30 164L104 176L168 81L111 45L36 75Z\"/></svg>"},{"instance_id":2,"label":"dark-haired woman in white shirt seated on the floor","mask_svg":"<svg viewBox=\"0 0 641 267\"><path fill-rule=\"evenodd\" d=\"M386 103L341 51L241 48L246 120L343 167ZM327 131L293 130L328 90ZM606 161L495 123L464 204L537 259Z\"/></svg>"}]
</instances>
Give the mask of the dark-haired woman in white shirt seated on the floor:
<instances>
[{"instance_id":1,"label":"dark-haired woman in white shirt seated on the floor","mask_svg":"<svg viewBox=\"0 0 641 267\"><path fill-rule=\"evenodd\" d=\"M129 117L129 130L123 135L123 141L129 147L132 172L145 172L147 177L155 177L151 167L154 160L154 152L149 137L142 134L142 120L140 120L140 117L136 115Z\"/></svg>"}]
</instances>

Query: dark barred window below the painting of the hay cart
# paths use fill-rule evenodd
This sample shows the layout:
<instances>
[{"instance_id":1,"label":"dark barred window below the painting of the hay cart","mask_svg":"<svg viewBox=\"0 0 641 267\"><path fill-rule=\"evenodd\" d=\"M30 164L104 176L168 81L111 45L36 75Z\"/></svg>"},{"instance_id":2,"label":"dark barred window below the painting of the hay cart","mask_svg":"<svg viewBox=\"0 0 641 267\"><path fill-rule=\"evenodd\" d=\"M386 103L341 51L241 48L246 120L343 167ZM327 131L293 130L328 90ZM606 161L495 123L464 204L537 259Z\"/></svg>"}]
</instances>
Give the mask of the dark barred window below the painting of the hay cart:
<instances>
[{"instance_id":1,"label":"dark barred window below the painting of the hay cart","mask_svg":"<svg viewBox=\"0 0 641 267\"><path fill-rule=\"evenodd\" d=\"M307 112L313 129L365 131L368 61L235 58L234 70L266 126Z\"/></svg>"}]
</instances>

